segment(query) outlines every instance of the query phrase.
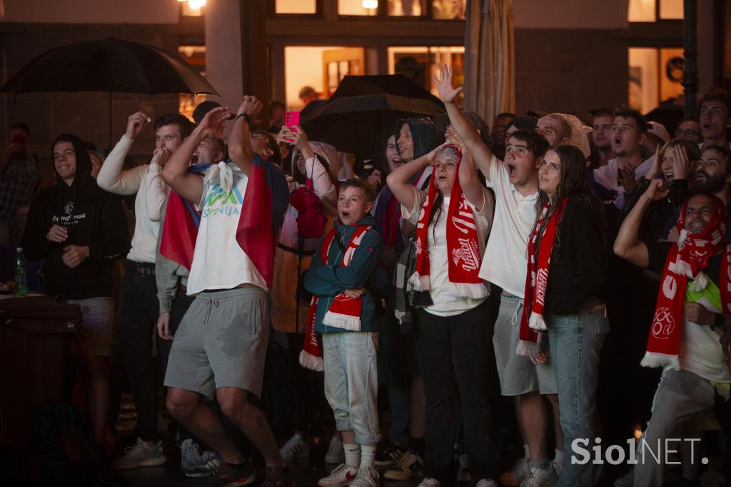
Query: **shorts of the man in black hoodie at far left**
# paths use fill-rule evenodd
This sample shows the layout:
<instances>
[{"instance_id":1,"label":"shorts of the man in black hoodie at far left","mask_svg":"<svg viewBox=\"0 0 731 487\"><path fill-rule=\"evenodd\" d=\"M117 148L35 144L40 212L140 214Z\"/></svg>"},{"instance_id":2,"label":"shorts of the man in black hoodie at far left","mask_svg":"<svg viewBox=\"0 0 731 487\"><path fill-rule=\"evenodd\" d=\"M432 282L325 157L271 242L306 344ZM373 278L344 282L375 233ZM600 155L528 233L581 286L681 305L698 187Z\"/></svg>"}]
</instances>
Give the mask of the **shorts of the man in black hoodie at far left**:
<instances>
[{"instance_id":1,"label":"shorts of the man in black hoodie at far left","mask_svg":"<svg viewBox=\"0 0 731 487\"><path fill-rule=\"evenodd\" d=\"M114 330L114 300L112 298L67 299L81 308L78 355L108 357Z\"/></svg>"}]
</instances>

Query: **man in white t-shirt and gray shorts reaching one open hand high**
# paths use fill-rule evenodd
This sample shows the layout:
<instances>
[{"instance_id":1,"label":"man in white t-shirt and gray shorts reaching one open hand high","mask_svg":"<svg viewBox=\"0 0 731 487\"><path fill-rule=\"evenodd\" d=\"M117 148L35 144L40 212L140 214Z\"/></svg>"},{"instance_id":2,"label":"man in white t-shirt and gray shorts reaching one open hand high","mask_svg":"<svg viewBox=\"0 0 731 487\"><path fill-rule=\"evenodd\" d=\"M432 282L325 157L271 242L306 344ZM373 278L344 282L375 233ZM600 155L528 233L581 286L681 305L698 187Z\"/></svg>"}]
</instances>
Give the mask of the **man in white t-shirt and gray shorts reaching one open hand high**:
<instances>
[{"instance_id":1,"label":"man in white t-shirt and gray shorts reaching one open hand high","mask_svg":"<svg viewBox=\"0 0 731 487\"><path fill-rule=\"evenodd\" d=\"M445 74L444 70L442 74ZM451 84L451 72L448 76ZM525 458L507 473L510 479L501 476L501 483L517 485L523 478L534 476L536 483L531 485L552 484L563 467L563 431L558 420L556 377L550 362L539 363L537 358L516 353L526 286L528 239L536 220L538 166L548 150L548 141L537 132L513 132L507 140L505 162L502 162L482 142L480 133L455 105L454 97L459 90L443 91L439 97L447 107L452 127L495 192L495 216L480 277L502 288L493 346L501 393L518 399L518 418L527 443ZM546 446L550 418L542 395L548 397L553 407L557 445L553 464Z\"/></svg>"}]
</instances>

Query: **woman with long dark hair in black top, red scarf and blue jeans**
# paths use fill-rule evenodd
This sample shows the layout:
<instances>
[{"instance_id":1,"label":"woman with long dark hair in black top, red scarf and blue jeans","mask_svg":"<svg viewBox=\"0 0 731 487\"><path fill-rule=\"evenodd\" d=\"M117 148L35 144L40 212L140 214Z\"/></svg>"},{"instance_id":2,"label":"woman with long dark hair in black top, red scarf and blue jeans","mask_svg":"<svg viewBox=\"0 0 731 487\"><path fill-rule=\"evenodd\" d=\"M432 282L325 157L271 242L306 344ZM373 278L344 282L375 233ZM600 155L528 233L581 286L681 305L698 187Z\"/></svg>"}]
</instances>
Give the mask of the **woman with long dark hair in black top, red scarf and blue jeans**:
<instances>
[{"instance_id":1,"label":"woman with long dark hair in black top, red scarf and blue jeans","mask_svg":"<svg viewBox=\"0 0 731 487\"><path fill-rule=\"evenodd\" d=\"M586 178L586 156L575 146L546 152L539 168L537 220L528 243L528 273L518 353L549 359L556 374L564 451L575 439L596 437L599 352L609 322L602 202ZM599 470L566 462L558 486L594 486Z\"/></svg>"}]
</instances>

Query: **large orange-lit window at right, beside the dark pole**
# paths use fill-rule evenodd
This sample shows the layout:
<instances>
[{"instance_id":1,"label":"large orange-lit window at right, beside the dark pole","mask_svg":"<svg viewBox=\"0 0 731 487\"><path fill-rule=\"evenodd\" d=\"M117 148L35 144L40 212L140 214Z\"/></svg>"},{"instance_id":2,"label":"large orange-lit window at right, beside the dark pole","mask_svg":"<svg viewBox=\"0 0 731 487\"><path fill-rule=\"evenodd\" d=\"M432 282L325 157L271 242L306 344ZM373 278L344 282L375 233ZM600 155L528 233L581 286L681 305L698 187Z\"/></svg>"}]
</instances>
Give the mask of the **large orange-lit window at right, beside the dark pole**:
<instances>
[{"instance_id":1,"label":"large orange-lit window at right, beside the dark pole","mask_svg":"<svg viewBox=\"0 0 731 487\"><path fill-rule=\"evenodd\" d=\"M683 93L681 48L629 48L629 106L647 113Z\"/></svg>"}]
</instances>

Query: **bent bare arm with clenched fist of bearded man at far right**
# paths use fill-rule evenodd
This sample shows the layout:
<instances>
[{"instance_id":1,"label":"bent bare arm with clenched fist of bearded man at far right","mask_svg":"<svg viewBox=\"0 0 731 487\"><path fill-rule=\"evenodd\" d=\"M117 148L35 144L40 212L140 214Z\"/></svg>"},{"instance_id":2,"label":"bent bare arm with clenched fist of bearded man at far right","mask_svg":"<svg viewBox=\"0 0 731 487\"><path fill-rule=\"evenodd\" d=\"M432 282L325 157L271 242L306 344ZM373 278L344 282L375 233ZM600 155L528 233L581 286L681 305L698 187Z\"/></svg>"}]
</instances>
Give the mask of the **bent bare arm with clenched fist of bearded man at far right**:
<instances>
[{"instance_id":1,"label":"bent bare arm with clenched fist of bearded man at far right","mask_svg":"<svg viewBox=\"0 0 731 487\"><path fill-rule=\"evenodd\" d=\"M647 246L640 241L640 224L642 218L647 211L650 203L656 200L662 200L667 197L670 189L667 189L665 181L662 179L653 179L642 196L637 200L635 208L629 212L627 217L619 227L619 233L614 241L614 253L624 260L637 265L637 267L647 268L650 265L650 256Z\"/></svg>"}]
</instances>

